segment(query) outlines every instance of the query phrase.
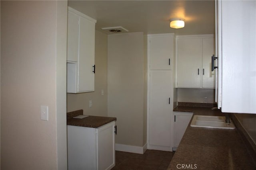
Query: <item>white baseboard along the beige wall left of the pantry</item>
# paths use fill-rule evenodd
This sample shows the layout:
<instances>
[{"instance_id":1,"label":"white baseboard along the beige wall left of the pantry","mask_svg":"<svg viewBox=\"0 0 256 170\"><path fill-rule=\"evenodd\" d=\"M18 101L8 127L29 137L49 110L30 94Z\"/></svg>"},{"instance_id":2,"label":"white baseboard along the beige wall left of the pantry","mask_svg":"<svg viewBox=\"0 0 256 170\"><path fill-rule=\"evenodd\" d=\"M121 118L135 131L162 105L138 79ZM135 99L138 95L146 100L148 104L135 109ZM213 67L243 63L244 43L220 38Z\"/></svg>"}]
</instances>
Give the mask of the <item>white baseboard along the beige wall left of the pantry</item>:
<instances>
[{"instance_id":1,"label":"white baseboard along the beige wall left of the pantry","mask_svg":"<svg viewBox=\"0 0 256 170\"><path fill-rule=\"evenodd\" d=\"M144 154L144 152L146 152L147 150L147 144L145 144L143 147L137 147L132 145L122 145L122 144L116 143L116 150L123 151L123 152Z\"/></svg>"}]
</instances>

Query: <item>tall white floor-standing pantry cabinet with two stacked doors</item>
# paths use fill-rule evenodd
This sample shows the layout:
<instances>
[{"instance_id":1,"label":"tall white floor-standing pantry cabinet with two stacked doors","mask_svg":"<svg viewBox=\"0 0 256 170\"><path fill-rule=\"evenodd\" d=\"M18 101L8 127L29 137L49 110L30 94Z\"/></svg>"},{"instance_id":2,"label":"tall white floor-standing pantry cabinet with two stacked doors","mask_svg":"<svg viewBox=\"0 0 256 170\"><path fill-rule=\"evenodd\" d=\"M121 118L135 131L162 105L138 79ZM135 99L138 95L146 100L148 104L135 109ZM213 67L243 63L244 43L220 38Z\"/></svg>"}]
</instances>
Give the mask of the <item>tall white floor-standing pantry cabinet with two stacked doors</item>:
<instances>
[{"instance_id":1,"label":"tall white floor-standing pantry cabinet with two stacked doors","mask_svg":"<svg viewBox=\"0 0 256 170\"><path fill-rule=\"evenodd\" d=\"M148 35L148 149L172 151L174 34Z\"/></svg>"}]
</instances>

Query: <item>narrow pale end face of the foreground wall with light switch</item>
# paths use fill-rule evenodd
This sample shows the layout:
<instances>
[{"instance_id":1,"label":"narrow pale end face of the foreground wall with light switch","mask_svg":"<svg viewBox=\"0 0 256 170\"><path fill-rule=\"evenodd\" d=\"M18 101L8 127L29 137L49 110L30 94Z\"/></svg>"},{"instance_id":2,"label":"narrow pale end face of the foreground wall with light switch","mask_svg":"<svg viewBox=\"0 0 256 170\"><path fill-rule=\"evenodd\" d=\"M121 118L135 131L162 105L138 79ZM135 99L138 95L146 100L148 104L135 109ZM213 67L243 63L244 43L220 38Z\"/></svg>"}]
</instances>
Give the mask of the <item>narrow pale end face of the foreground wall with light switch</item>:
<instances>
[{"instance_id":1,"label":"narrow pale end face of the foreground wall with light switch","mask_svg":"<svg viewBox=\"0 0 256 170\"><path fill-rule=\"evenodd\" d=\"M66 65L67 65L67 22L68 1L57 1L56 22L56 129L58 170L68 167L67 119L66 119Z\"/></svg>"}]
</instances>

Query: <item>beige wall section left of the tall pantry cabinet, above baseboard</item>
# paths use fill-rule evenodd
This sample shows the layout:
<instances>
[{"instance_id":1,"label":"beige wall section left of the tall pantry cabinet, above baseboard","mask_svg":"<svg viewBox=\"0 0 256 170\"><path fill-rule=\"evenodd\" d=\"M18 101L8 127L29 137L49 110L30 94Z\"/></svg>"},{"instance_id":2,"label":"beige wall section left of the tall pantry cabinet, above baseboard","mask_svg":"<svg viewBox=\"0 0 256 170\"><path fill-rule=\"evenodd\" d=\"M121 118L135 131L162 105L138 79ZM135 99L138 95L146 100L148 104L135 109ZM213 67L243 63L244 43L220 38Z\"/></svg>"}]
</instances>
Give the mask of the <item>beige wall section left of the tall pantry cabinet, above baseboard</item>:
<instances>
[{"instance_id":1,"label":"beige wall section left of the tall pantry cabinet, above baseboard","mask_svg":"<svg viewBox=\"0 0 256 170\"><path fill-rule=\"evenodd\" d=\"M142 32L108 35L108 116L117 118L117 144L145 144L144 58Z\"/></svg>"}]
</instances>

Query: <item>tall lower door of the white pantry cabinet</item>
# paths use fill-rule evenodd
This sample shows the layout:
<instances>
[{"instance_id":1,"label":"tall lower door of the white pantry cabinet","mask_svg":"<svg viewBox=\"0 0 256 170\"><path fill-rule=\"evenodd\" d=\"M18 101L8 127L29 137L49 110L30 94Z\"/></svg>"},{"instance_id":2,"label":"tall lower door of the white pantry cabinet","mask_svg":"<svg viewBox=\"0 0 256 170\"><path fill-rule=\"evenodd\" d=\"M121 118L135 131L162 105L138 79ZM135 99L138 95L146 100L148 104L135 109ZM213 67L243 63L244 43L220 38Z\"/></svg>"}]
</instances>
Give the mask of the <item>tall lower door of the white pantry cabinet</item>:
<instances>
[{"instance_id":1,"label":"tall lower door of the white pantry cabinet","mask_svg":"<svg viewBox=\"0 0 256 170\"><path fill-rule=\"evenodd\" d=\"M172 71L150 72L149 144L170 147Z\"/></svg>"}]
</instances>

